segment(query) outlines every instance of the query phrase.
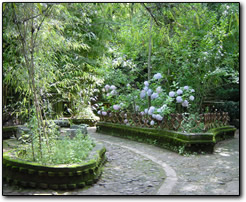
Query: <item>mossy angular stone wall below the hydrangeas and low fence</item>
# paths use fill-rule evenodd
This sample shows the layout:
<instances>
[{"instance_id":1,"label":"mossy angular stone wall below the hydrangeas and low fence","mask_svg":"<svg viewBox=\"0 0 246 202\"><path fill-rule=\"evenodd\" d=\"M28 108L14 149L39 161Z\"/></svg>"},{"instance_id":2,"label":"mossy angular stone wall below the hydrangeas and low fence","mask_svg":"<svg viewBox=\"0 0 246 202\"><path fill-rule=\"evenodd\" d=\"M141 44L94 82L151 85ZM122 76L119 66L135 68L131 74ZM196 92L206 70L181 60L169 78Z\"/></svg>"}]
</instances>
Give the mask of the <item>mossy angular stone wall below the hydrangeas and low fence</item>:
<instances>
[{"instance_id":1,"label":"mossy angular stone wall below the hydrangeas and low fence","mask_svg":"<svg viewBox=\"0 0 246 202\"><path fill-rule=\"evenodd\" d=\"M212 153L218 141L233 138L235 131L233 126L223 126L207 133L182 133L107 122L97 123L97 132L154 144L179 153Z\"/></svg>"}]
</instances>

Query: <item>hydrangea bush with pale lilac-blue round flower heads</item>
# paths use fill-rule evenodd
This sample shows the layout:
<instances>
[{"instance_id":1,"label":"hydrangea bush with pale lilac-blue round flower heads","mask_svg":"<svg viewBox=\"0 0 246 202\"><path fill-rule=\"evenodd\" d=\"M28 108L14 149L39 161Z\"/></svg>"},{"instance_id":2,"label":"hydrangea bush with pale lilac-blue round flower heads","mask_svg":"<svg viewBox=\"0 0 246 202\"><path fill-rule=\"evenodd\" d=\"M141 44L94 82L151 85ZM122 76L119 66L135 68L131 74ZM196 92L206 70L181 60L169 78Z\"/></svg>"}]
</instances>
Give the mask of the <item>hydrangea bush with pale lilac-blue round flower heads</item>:
<instances>
[{"instance_id":1,"label":"hydrangea bush with pale lilac-blue round flower heads","mask_svg":"<svg viewBox=\"0 0 246 202\"><path fill-rule=\"evenodd\" d=\"M120 87L106 84L103 88L104 99L109 106L100 104L98 115L111 116L111 112L134 112L141 116L151 117L149 124L154 126L164 117L171 113L181 111L187 112L195 100L195 90L191 86L178 87L171 86L172 90L166 91L162 84L163 76L156 73L149 81L144 81L140 89L133 88L127 84L124 93L119 93ZM148 106L148 100L151 100L151 106ZM129 124L127 114L125 114L124 123Z\"/></svg>"}]
</instances>

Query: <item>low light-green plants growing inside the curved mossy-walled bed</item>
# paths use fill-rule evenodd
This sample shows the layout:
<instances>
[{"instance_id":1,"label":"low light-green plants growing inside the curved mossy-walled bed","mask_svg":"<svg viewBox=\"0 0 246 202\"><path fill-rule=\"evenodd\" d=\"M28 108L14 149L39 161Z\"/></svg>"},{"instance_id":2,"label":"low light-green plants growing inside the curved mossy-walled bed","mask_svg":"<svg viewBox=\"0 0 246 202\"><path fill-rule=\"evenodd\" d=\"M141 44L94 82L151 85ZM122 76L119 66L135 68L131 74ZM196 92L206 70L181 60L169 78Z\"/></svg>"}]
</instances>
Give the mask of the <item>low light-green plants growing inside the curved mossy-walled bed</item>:
<instances>
[{"instance_id":1,"label":"low light-green plants growing inside the curved mossy-walled bed","mask_svg":"<svg viewBox=\"0 0 246 202\"><path fill-rule=\"evenodd\" d=\"M34 147L38 146L39 143L36 138L34 139ZM35 162L43 165L55 165L83 162L95 144L88 135L85 136L78 132L73 139L69 137L63 139L49 138L49 146L44 141L41 146L42 154L39 150L35 150ZM26 144L18 149L17 155L21 159L33 161L31 144Z\"/></svg>"}]
</instances>

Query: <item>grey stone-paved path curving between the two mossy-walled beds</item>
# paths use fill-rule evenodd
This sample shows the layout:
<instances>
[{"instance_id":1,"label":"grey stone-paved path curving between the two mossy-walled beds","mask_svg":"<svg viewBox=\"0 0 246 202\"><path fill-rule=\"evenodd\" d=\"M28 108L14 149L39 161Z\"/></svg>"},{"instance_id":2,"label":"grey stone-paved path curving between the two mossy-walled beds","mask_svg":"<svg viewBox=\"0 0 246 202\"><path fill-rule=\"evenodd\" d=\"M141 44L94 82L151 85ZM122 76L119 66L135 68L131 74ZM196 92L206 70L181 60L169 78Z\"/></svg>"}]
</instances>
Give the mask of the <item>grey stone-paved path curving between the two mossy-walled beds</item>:
<instances>
[{"instance_id":1,"label":"grey stone-paved path curving between the two mossy-walled beds","mask_svg":"<svg viewBox=\"0 0 246 202\"><path fill-rule=\"evenodd\" d=\"M181 156L126 139L95 133L107 148L101 179L83 190L23 189L3 183L3 195L238 195L239 137L216 145L214 154Z\"/></svg>"}]
</instances>

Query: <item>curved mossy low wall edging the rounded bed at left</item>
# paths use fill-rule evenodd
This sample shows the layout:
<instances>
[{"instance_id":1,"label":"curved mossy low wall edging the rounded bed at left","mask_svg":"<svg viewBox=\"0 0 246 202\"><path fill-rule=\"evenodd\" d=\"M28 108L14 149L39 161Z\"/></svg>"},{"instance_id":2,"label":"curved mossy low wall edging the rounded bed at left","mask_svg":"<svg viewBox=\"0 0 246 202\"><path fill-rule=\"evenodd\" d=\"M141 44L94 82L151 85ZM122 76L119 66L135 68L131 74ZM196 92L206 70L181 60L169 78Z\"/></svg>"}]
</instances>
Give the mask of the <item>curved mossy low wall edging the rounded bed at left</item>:
<instances>
[{"instance_id":1,"label":"curved mossy low wall edging the rounded bed at left","mask_svg":"<svg viewBox=\"0 0 246 202\"><path fill-rule=\"evenodd\" d=\"M74 189L98 180L106 149L97 143L83 164L44 166L18 159L13 151L3 153L3 178L27 187Z\"/></svg>"}]
</instances>

